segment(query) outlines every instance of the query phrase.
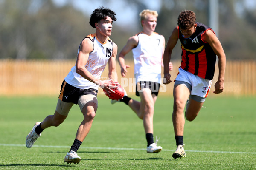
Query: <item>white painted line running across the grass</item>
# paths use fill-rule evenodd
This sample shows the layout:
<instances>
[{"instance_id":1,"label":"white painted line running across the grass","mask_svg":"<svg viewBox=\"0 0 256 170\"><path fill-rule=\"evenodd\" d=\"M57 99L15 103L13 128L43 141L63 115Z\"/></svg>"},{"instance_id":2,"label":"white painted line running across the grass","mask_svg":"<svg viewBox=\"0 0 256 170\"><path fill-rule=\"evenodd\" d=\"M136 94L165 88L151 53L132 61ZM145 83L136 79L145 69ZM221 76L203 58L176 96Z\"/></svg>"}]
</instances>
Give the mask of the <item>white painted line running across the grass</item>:
<instances>
[{"instance_id":1,"label":"white painted line running across the grass","mask_svg":"<svg viewBox=\"0 0 256 170\"><path fill-rule=\"evenodd\" d=\"M0 144L0 146L9 147L26 147L25 144ZM70 148L70 146L51 146L51 145L33 145L33 147L54 147L54 148ZM146 150L145 148L124 148L124 147L79 147L84 149L105 149L105 150ZM163 149L163 151L173 152L175 150ZM204 152L204 153L238 153L238 154L256 154L256 152L229 152L229 151L213 151L213 150L186 150L186 152Z\"/></svg>"}]
</instances>

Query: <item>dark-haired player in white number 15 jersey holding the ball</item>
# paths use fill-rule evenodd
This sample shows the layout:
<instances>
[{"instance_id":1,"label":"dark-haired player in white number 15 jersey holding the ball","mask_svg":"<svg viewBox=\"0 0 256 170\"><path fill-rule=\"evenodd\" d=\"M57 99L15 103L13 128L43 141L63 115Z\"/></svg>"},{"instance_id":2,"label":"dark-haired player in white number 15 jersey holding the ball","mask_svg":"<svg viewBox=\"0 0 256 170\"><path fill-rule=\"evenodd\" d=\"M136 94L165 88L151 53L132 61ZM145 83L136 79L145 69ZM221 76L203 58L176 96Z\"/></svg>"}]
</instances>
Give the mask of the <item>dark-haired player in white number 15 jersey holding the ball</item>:
<instances>
[{"instance_id":1,"label":"dark-haired player in white number 15 jersey holding the ball","mask_svg":"<svg viewBox=\"0 0 256 170\"><path fill-rule=\"evenodd\" d=\"M67 118L73 104L78 104L84 119L64 162L78 164L81 161L76 152L93 123L98 108L98 86L108 91L110 79L117 80L117 45L109 39L112 23L116 21L115 15L114 11L104 7L93 11L90 16L90 25L96 28L96 33L88 35L81 41L76 65L71 68L61 85L54 115L49 115L43 122L35 124L26 137L26 147L31 148L44 129L60 125ZM100 77L107 63L109 80L102 81Z\"/></svg>"}]
</instances>

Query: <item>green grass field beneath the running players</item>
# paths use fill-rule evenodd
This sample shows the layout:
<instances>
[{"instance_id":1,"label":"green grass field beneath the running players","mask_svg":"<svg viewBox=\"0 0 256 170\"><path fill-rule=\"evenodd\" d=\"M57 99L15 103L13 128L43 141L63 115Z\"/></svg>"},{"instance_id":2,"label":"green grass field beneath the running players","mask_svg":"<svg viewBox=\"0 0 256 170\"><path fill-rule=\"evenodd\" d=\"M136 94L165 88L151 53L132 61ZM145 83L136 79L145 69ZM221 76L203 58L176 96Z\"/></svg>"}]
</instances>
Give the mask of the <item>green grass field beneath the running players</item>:
<instances>
[{"instance_id":1,"label":"green grass field beneath the running players","mask_svg":"<svg viewBox=\"0 0 256 170\"><path fill-rule=\"evenodd\" d=\"M146 153L143 122L124 103L99 97L93 126L81 145L79 164L64 163L82 121L74 105L59 127L44 130L31 149L25 138L35 122L54 113L57 97L0 97L0 169L4 170L255 170L256 97L212 97L193 122L185 122L186 158L173 159L172 97L159 96L154 137L158 154ZM138 98L135 98L138 99Z\"/></svg>"}]
</instances>

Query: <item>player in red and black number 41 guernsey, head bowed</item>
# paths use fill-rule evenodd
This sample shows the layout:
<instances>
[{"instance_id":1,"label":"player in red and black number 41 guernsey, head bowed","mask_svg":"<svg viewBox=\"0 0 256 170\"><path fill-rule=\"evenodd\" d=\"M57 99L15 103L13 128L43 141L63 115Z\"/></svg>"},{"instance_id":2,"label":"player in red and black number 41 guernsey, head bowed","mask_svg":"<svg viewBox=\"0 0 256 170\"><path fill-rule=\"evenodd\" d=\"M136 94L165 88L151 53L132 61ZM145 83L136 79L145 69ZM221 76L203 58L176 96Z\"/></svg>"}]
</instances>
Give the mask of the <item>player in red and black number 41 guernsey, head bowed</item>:
<instances>
[{"instance_id":1,"label":"player in red and black number 41 guernsey, head bowed","mask_svg":"<svg viewBox=\"0 0 256 170\"><path fill-rule=\"evenodd\" d=\"M171 59L172 49L180 39L182 61L173 89L172 122L177 149L172 157L175 159L186 156L183 143L185 124L183 111L186 102L188 100L185 117L188 121L193 121L208 96L215 70L216 55L218 56L219 74L213 93L219 94L224 89L226 56L221 42L211 28L195 22L195 19L193 11L180 13L178 26L172 31L164 51L164 84L169 84L172 80L168 63Z\"/></svg>"}]
</instances>

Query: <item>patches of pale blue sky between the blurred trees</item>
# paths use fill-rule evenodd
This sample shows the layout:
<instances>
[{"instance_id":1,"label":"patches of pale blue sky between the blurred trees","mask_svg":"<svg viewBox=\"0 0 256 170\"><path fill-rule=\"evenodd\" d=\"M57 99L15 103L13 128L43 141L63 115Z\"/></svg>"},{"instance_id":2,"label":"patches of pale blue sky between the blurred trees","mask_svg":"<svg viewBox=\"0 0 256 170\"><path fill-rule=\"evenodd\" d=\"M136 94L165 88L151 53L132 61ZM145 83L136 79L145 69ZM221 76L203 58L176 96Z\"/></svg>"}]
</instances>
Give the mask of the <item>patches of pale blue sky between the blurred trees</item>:
<instances>
[{"instance_id":1,"label":"patches of pale blue sky between the blurred trees","mask_svg":"<svg viewBox=\"0 0 256 170\"><path fill-rule=\"evenodd\" d=\"M90 16L95 8L104 6L110 8L116 12L117 20L116 24L123 26L125 28L131 27L134 28L134 25L139 24L139 14L136 11L136 6L128 4L127 0L52 0L57 6L64 6L67 3L71 3L75 8L81 10L84 14ZM147 8L151 10L160 10L161 0L141 0L147 4ZM173 8L174 4L172 1L166 0L169 2L170 8ZM248 10L255 10L256 0L244 0L245 8ZM240 16L243 15L244 8L241 8L241 4L236 4L235 10Z\"/></svg>"}]
</instances>

